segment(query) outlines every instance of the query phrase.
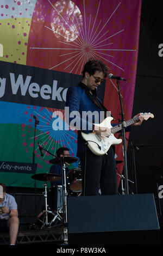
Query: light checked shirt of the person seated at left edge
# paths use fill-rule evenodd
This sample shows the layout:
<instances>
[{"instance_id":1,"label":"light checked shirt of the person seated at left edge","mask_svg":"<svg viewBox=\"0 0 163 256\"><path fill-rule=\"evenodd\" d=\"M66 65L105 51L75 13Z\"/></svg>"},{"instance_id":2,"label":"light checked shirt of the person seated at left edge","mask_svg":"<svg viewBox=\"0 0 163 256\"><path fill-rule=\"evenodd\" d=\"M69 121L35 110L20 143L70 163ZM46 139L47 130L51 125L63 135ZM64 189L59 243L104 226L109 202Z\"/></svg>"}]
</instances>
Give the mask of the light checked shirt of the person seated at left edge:
<instances>
[{"instance_id":1,"label":"light checked shirt of the person seated at left edge","mask_svg":"<svg viewBox=\"0 0 163 256\"><path fill-rule=\"evenodd\" d=\"M17 203L15 201L15 198L13 196L11 196L11 194L7 194L5 193L5 197L4 197L4 201L2 204L0 204L0 206L2 207L8 207L9 210L17 210ZM10 218L10 216L8 214L2 214L0 215L0 219L3 220L8 220Z\"/></svg>"}]
</instances>

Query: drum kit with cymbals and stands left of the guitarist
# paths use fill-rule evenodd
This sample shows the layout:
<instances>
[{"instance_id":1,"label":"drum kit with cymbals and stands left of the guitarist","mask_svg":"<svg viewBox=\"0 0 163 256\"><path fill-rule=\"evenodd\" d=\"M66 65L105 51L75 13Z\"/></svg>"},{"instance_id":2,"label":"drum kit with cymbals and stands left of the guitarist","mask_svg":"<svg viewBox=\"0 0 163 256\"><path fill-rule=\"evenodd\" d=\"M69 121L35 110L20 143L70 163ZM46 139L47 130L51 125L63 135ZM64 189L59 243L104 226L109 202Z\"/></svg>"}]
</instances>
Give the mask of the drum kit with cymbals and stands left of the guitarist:
<instances>
[{"instance_id":1,"label":"drum kit with cymbals and stands left of the guitarist","mask_svg":"<svg viewBox=\"0 0 163 256\"><path fill-rule=\"evenodd\" d=\"M61 166L62 175L53 174L53 173L40 173L32 175L32 178L35 180L44 181L43 195L45 197L45 210L43 210L43 219L41 221L42 228L52 228L62 225L62 227L67 226L67 197L69 196L70 191L75 193L77 196L82 194L82 170L80 168L74 168L71 170L73 172L74 180L67 187L66 182L66 166L67 163L77 162L77 157L56 157L52 160L49 160L52 164L59 164ZM61 186L50 187L50 204L51 208L48 205L48 192L47 192L47 183L51 181L61 181ZM42 214L41 214L42 215ZM37 216L37 218L39 218ZM49 220L50 218L50 220Z\"/></svg>"}]
</instances>

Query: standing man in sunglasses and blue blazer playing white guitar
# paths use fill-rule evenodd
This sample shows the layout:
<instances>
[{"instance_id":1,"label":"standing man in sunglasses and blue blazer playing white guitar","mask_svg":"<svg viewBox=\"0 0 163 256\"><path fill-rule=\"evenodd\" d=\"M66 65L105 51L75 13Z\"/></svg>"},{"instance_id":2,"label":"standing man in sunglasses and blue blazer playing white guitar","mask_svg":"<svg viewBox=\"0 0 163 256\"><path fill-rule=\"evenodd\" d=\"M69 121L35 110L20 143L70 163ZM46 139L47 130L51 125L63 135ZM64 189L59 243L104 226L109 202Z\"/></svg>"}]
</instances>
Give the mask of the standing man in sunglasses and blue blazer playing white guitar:
<instances>
[{"instance_id":1,"label":"standing man in sunglasses and blue blazer playing white guitar","mask_svg":"<svg viewBox=\"0 0 163 256\"><path fill-rule=\"evenodd\" d=\"M86 129L78 129L78 151L77 156L80 158L82 173L83 173L83 196L98 195L99 185L102 195L117 194L117 175L115 154L112 145L108 146L109 149L101 153L102 149L98 143L92 142L90 149L89 141L92 139L83 139L84 136L96 135L98 141L105 136L109 138L112 136L111 127L94 125L96 122L92 121L92 128L89 127L89 120L82 119L84 111L101 111L106 112L106 108L102 105L101 101L97 98L96 89L108 76L108 68L100 60L90 60L84 66L83 80L78 86L70 87L67 90L66 106L69 107L70 113L76 111L80 113L79 121L85 122ZM72 120L70 115L70 121ZM132 125L141 125L143 117L140 114L136 115L136 121ZM87 145L86 145L87 141ZM93 152L93 145L99 149L99 154ZM108 142L106 143L106 146ZM105 154L106 153L106 154Z\"/></svg>"}]
</instances>

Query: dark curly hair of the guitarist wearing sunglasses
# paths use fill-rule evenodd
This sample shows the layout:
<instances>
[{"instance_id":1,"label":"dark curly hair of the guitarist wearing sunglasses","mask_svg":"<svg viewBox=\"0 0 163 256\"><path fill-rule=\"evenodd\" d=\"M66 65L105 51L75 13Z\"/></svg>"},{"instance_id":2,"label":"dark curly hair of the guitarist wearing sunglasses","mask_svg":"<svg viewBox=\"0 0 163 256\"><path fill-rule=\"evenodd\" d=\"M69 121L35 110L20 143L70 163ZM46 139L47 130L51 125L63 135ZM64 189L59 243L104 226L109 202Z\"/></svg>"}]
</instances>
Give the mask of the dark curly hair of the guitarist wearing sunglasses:
<instances>
[{"instance_id":1,"label":"dark curly hair of the guitarist wearing sunglasses","mask_svg":"<svg viewBox=\"0 0 163 256\"><path fill-rule=\"evenodd\" d=\"M108 76L108 68L106 67L105 63L103 63L101 60L90 59L84 65L84 69L82 71L83 77L85 76L85 72L88 72L90 75L94 75L96 71L103 72L104 78Z\"/></svg>"}]
</instances>

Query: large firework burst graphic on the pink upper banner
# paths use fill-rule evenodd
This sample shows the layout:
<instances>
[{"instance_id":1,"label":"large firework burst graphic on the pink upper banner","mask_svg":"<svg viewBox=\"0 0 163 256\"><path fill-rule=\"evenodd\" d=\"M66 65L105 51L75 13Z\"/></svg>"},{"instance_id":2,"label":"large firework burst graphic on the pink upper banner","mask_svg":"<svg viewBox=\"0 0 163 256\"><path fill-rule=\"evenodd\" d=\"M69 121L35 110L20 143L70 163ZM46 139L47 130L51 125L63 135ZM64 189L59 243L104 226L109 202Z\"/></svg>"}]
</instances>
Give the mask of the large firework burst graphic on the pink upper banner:
<instances>
[{"instance_id":1,"label":"large firework burst graphic on the pink upper banner","mask_svg":"<svg viewBox=\"0 0 163 256\"><path fill-rule=\"evenodd\" d=\"M116 68L123 72L124 65L123 63L122 65L116 63L115 55L118 52L121 56L124 52L135 52L136 49L134 47L121 48L121 39L126 34L126 28L124 28L124 21L121 21L121 29L118 29L115 20L123 12L124 4L117 1L113 2L115 4L110 4L108 16L104 10L104 1L92 1L91 5L90 1L83 0L83 6L80 5L79 9L77 4L72 1L61 0L52 3L51 0L48 0L49 5L47 4L46 8L51 9L49 11L51 21L44 7L41 25L44 27L45 34L50 33L52 40L43 44L49 44L49 47L37 47L39 42L31 41L29 46L31 54L35 52L37 56L40 56L37 63L33 62L34 60L32 63L39 64L39 66L43 63L45 65L46 55L50 52L51 59L52 56L55 58L49 59L48 65L46 65L48 69L81 74L85 62L90 58L96 58L103 60L109 70ZM34 10L35 19L37 15L40 15L37 14L36 9ZM54 45L58 47L52 47ZM45 57L44 61L42 56ZM57 56L58 58L56 58Z\"/></svg>"}]
</instances>

